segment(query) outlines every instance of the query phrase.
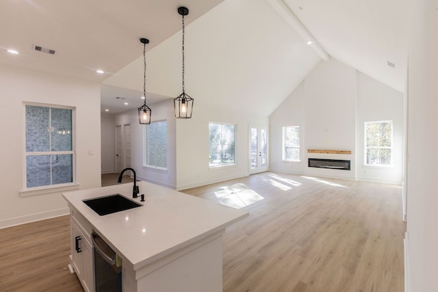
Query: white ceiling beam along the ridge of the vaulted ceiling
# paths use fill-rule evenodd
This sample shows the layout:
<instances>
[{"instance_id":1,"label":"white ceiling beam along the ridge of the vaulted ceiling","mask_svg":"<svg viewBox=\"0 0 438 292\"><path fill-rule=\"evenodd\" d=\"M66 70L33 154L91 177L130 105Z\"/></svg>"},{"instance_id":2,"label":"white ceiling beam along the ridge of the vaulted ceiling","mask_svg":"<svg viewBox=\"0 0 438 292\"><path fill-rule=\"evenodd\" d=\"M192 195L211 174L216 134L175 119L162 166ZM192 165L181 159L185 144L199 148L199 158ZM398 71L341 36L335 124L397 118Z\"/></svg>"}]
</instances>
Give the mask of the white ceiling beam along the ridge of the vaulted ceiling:
<instances>
[{"instance_id":1,"label":"white ceiling beam along the ridge of the vaulted ceiling","mask_svg":"<svg viewBox=\"0 0 438 292\"><path fill-rule=\"evenodd\" d=\"M289 5L284 0L266 0L278 14L280 14L287 23L301 36L305 42L312 42L309 46L317 53L324 61L329 59L329 54L324 50L320 43L313 38L310 31L301 23L295 16L294 12L289 8Z\"/></svg>"}]
</instances>

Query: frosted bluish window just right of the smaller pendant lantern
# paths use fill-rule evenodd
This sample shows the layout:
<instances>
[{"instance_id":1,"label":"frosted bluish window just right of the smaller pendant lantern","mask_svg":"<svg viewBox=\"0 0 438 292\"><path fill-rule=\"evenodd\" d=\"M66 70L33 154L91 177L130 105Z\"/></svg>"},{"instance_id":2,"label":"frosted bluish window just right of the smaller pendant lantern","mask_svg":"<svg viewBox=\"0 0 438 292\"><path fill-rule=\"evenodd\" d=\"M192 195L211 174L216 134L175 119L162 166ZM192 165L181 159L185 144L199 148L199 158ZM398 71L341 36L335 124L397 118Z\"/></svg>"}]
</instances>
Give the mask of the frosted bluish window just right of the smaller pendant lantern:
<instances>
[{"instance_id":1,"label":"frosted bluish window just right of the smaller pendant lantern","mask_svg":"<svg viewBox=\"0 0 438 292\"><path fill-rule=\"evenodd\" d=\"M167 121L146 126L146 165L167 169Z\"/></svg>"}]
</instances>

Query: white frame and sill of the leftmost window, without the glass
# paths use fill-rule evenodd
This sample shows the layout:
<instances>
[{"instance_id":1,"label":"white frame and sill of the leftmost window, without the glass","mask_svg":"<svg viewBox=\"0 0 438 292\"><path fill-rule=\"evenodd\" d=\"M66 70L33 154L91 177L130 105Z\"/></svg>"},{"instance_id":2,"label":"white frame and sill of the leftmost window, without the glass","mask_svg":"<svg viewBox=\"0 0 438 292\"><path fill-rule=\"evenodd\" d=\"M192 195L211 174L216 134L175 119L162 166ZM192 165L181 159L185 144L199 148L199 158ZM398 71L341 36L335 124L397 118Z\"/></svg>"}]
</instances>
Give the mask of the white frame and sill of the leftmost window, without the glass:
<instances>
[{"instance_id":1,"label":"white frame and sill of the leftmost window, without the glass","mask_svg":"<svg viewBox=\"0 0 438 292\"><path fill-rule=\"evenodd\" d=\"M36 107L49 107L55 109L70 109L72 111L71 116L71 135L72 135L72 150L69 151L47 151L47 152L31 152L34 155L63 155L70 154L72 155L72 174L73 174L73 182L71 183L60 183L60 184L51 184L51 185L42 185L38 187L27 187L27 159L26 157L29 155L26 152L26 106L36 106ZM34 196L40 194L50 194L56 193L60 191L70 191L74 189L79 189L79 183L77 183L76 176L76 107L68 107L65 105L54 105L54 104L46 104L46 103L31 103L31 102L23 102L23 189L19 191L20 196ZM55 154L53 154L55 153Z\"/></svg>"}]
</instances>

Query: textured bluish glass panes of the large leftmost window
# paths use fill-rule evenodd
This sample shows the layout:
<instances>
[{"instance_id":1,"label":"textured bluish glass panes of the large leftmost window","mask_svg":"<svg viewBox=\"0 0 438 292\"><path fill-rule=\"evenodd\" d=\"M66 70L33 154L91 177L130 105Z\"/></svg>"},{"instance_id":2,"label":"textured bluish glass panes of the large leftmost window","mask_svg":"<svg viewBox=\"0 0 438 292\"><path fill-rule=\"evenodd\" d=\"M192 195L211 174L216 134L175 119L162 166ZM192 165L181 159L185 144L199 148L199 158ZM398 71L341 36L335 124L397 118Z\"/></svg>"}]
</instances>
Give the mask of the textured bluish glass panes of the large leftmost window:
<instances>
[{"instance_id":1,"label":"textured bluish glass panes of the large leftmost window","mask_svg":"<svg viewBox=\"0 0 438 292\"><path fill-rule=\"evenodd\" d=\"M73 183L73 109L25 105L27 188Z\"/></svg>"}]
</instances>

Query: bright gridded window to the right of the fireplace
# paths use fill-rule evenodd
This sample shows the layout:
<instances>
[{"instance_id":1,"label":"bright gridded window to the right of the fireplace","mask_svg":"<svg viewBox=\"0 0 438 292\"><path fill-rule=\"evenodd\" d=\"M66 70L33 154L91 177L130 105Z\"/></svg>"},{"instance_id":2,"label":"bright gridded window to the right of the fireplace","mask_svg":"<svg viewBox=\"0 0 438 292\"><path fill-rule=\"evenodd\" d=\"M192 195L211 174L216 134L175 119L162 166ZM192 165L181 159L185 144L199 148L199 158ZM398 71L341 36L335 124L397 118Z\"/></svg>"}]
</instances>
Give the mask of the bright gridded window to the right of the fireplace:
<instances>
[{"instance_id":1,"label":"bright gridded window to the right of the fireplace","mask_svg":"<svg viewBox=\"0 0 438 292\"><path fill-rule=\"evenodd\" d=\"M392 121L365 122L365 164L392 164Z\"/></svg>"}]
</instances>

